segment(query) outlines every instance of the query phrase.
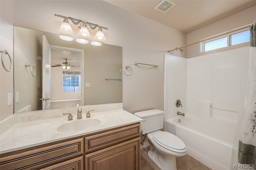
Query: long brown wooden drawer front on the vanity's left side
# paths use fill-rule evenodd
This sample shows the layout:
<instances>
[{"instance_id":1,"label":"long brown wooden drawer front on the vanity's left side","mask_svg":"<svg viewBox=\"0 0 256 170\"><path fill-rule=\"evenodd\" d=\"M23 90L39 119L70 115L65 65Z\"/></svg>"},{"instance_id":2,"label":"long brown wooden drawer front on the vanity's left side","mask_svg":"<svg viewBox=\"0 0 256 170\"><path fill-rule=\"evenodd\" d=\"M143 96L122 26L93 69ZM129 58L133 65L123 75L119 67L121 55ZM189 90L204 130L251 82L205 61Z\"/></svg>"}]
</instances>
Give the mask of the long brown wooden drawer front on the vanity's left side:
<instances>
[{"instance_id":1,"label":"long brown wooden drawer front on the vanity's left side","mask_svg":"<svg viewBox=\"0 0 256 170\"><path fill-rule=\"evenodd\" d=\"M21 153L15 153L9 156L1 155L0 169L38 169L63 160L83 155L84 140L83 138L53 144L51 146L38 146L33 150L25 150Z\"/></svg>"}]
</instances>

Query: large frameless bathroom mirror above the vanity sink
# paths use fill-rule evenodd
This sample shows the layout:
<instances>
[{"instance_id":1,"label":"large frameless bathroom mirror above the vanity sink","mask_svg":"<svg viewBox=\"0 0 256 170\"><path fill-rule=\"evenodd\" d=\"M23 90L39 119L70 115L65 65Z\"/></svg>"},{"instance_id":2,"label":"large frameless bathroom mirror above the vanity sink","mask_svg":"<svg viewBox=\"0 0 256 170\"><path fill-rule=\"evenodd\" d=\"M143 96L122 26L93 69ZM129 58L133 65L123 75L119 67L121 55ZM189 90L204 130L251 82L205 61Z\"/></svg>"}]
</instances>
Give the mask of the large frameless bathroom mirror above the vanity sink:
<instances>
[{"instance_id":1,"label":"large frameless bathroom mirror above the vanity sink","mask_svg":"<svg viewBox=\"0 0 256 170\"><path fill-rule=\"evenodd\" d=\"M122 102L122 47L59 36L14 26L14 113Z\"/></svg>"}]
</instances>

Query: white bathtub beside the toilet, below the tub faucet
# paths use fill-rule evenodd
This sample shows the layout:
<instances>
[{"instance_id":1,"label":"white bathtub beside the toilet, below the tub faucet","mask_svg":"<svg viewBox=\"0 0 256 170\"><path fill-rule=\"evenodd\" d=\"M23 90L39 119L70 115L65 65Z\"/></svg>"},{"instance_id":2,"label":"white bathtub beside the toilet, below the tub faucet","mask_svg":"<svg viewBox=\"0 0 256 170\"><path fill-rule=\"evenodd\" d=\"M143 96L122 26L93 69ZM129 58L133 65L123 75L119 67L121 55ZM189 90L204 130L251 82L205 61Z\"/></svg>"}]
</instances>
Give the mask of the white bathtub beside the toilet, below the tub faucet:
<instances>
[{"instance_id":1,"label":"white bathtub beside the toilet, below the tub faucet","mask_svg":"<svg viewBox=\"0 0 256 170\"><path fill-rule=\"evenodd\" d=\"M187 154L213 170L229 170L236 124L209 118L176 117L165 121L165 130L178 136Z\"/></svg>"}]
</instances>

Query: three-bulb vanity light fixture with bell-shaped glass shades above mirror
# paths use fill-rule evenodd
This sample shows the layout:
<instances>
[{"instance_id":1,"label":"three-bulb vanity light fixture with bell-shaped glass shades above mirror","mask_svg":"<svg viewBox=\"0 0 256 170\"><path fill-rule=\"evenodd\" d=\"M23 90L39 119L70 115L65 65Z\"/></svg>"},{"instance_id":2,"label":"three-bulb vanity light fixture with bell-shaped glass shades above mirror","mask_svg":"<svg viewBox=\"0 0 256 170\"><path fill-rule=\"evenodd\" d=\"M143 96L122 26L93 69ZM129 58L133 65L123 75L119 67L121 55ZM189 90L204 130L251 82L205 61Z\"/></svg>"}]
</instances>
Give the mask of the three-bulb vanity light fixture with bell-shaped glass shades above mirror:
<instances>
[{"instance_id":1,"label":"three-bulb vanity light fixture with bell-shaped glass shades above mirror","mask_svg":"<svg viewBox=\"0 0 256 170\"><path fill-rule=\"evenodd\" d=\"M98 32L96 33L96 40L95 41L105 41L106 38L104 36L104 33L102 31L102 29L104 30L108 30L108 28L103 27L103 26L99 26L97 24L93 24L90 22L85 22L82 20L78 20L75 18L71 18L71 17L66 17L66 16L62 16L62 15L57 15L54 14L54 16L59 17L59 18L64 18L64 21L62 23L62 25L60 26L60 29L58 30L60 33L64 34L64 35L70 35L73 34L72 28L71 26L68 24L68 20L72 21L73 24L78 25L78 27L80 28L80 31L78 32L78 36L81 38L90 38L90 32L88 30L88 28L90 27L91 30L95 30L96 28L98 28Z\"/></svg>"}]
</instances>

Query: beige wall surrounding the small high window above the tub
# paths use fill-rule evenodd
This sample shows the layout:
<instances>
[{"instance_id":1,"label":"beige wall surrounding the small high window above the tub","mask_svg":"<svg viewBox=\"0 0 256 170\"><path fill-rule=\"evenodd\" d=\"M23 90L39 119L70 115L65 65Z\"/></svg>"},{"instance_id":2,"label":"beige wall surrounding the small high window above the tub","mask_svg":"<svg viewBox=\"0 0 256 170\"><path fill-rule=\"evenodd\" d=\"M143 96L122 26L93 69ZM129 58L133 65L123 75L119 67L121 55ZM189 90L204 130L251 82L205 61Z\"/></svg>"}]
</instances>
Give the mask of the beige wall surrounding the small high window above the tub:
<instances>
[{"instance_id":1,"label":"beige wall surrounding the small high window above the tub","mask_svg":"<svg viewBox=\"0 0 256 170\"><path fill-rule=\"evenodd\" d=\"M256 22L256 6L253 6L246 10L238 12L232 16L226 17L222 20L209 24L208 26L202 27L198 30L188 33L187 44L191 44L191 43L203 40L205 38L209 38L211 36L215 36L215 35L218 35L242 26L246 26L254 22ZM244 46L248 46L248 44L245 44ZM242 46L238 45L237 47L242 47ZM230 50L233 48L234 47L226 47L223 50ZM213 53L213 52L222 51L222 49L209 51L206 53L200 53L200 43L197 43L195 45L186 47L186 51L187 51L186 57L191 58L199 55L205 55L209 52Z\"/></svg>"}]
</instances>

